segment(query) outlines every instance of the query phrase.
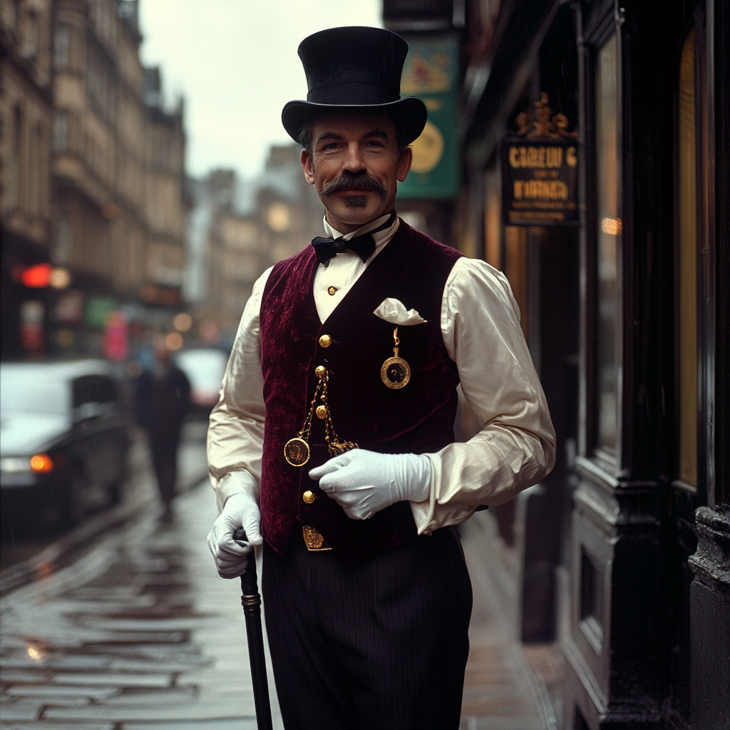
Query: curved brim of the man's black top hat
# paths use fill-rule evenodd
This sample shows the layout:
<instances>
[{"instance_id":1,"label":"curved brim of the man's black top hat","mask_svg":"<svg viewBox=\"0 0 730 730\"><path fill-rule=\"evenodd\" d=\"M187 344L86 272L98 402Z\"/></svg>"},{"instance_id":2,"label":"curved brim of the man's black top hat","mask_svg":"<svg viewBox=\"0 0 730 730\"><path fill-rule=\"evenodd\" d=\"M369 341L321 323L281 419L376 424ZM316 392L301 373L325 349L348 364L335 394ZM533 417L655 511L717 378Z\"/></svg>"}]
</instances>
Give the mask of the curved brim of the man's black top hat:
<instances>
[{"instance_id":1,"label":"curved brim of the man's black top hat","mask_svg":"<svg viewBox=\"0 0 730 730\"><path fill-rule=\"evenodd\" d=\"M429 112L416 96L388 101L386 104L316 104L314 101L289 101L281 112L281 122L295 142L301 130L318 117L332 114L385 114L404 131L408 144L420 137Z\"/></svg>"}]
</instances>

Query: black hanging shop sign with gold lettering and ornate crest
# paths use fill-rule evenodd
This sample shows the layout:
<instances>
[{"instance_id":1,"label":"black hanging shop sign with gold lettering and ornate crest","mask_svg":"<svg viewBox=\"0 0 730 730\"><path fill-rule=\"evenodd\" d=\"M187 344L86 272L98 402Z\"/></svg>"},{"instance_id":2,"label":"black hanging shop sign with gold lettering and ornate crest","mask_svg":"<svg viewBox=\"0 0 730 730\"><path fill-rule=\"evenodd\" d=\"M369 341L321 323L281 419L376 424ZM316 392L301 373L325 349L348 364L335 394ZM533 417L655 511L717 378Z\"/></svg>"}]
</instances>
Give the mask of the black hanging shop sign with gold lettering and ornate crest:
<instances>
[{"instance_id":1,"label":"black hanging shop sign with gold lettering and ornate crest","mask_svg":"<svg viewBox=\"0 0 730 730\"><path fill-rule=\"evenodd\" d=\"M531 118L502 140L502 221L506 226L577 226L579 148L563 114L553 115L543 93Z\"/></svg>"}]
</instances>

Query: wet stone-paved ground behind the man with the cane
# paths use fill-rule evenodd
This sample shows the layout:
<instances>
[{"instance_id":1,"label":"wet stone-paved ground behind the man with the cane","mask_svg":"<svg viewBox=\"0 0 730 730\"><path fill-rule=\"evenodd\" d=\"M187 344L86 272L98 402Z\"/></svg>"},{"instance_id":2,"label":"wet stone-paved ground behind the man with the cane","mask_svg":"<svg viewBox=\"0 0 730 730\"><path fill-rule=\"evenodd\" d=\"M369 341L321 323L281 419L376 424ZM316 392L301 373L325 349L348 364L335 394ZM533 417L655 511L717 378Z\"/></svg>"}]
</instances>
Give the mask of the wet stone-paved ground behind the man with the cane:
<instances>
[{"instance_id":1,"label":"wet stone-paved ground behind the man with the cane","mask_svg":"<svg viewBox=\"0 0 730 730\"><path fill-rule=\"evenodd\" d=\"M196 486L175 500L172 523L158 520L146 451L138 444L128 493L142 511L99 534L70 564L39 570L42 577L6 591L4 730L255 728L239 581L218 577L205 543L215 500L201 478L201 435L188 431L180 453L180 483L194 477ZM489 520L482 515L464 529L470 562L485 560ZM496 591L486 575L475 581L461 727L552 729L550 699L531 669L542 666L543 679L554 675L549 649L537 648L526 660L513 612L490 602ZM271 676L269 686L274 727L281 728Z\"/></svg>"}]
</instances>

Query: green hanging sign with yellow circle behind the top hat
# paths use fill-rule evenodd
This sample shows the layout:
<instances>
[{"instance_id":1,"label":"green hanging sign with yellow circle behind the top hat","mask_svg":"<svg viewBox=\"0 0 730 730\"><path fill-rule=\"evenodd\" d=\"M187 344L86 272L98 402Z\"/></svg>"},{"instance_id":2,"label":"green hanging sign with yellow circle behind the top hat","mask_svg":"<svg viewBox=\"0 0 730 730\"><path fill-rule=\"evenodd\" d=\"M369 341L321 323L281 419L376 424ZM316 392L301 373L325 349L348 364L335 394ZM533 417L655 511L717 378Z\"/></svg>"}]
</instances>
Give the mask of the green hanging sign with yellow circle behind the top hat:
<instances>
[{"instance_id":1,"label":"green hanging sign with yellow circle behind the top hat","mask_svg":"<svg viewBox=\"0 0 730 730\"><path fill-rule=\"evenodd\" d=\"M418 96L429 110L423 133L412 143L413 164L400 199L454 198L458 193L456 36L408 37L401 96Z\"/></svg>"}]
</instances>

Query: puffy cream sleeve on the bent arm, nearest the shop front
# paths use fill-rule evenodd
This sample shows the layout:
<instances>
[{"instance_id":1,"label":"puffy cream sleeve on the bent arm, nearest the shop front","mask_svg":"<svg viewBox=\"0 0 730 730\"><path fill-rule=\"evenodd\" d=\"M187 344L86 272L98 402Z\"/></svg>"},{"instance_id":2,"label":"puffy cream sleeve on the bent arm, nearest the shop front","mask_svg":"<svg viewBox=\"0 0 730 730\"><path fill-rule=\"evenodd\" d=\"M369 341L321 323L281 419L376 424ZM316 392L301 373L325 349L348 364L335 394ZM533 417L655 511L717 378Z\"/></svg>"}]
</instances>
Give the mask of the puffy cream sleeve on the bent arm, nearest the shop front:
<instances>
[{"instance_id":1,"label":"puffy cream sleeve on the bent arm, nearest the shop front","mask_svg":"<svg viewBox=\"0 0 730 730\"><path fill-rule=\"evenodd\" d=\"M503 504L555 464L555 431L502 272L461 258L442 299L444 345L481 430L429 454L430 498L411 502L418 532L455 525L480 504Z\"/></svg>"}]
</instances>

